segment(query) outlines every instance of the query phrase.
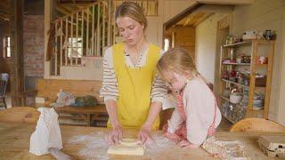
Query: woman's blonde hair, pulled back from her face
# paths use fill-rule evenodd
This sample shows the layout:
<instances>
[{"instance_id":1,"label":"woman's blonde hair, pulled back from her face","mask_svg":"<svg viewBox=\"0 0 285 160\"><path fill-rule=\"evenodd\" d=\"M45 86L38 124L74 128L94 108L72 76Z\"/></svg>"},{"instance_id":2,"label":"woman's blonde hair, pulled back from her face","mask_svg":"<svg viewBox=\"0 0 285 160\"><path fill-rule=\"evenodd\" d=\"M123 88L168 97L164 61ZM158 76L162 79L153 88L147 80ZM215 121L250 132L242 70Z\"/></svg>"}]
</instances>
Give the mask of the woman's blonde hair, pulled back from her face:
<instances>
[{"instance_id":1,"label":"woman's blonde hair, pulled back from her face","mask_svg":"<svg viewBox=\"0 0 285 160\"><path fill-rule=\"evenodd\" d=\"M139 4L135 4L134 2L124 2L118 6L115 19L117 20L121 17L129 17L139 22L144 26L144 30L148 26L148 21L144 16L142 8Z\"/></svg>"}]
</instances>

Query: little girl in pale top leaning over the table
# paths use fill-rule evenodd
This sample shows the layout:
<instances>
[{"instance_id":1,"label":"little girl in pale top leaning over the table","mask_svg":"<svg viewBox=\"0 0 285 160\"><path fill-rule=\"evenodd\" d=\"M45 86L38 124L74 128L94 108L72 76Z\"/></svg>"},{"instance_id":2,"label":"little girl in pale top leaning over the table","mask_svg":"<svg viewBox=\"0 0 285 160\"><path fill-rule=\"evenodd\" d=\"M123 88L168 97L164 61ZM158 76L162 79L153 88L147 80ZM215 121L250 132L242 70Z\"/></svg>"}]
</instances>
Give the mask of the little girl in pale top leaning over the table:
<instances>
[{"instance_id":1,"label":"little girl in pale top leaning over the table","mask_svg":"<svg viewBox=\"0 0 285 160\"><path fill-rule=\"evenodd\" d=\"M163 128L183 148L199 147L221 122L214 93L183 49L166 52L157 64L159 75L176 93L176 108Z\"/></svg>"}]
</instances>

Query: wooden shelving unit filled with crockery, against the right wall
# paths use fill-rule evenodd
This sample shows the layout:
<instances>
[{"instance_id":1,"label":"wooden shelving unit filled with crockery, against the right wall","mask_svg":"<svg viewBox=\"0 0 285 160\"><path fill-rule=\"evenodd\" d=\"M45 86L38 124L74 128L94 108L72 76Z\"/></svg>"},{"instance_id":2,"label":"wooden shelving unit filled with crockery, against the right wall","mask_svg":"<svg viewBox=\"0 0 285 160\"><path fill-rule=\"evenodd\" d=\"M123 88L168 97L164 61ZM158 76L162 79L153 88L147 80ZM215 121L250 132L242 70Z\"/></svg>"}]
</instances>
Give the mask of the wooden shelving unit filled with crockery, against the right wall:
<instances>
[{"instance_id":1,"label":"wooden shelving unit filled with crockery, against the right wall","mask_svg":"<svg viewBox=\"0 0 285 160\"><path fill-rule=\"evenodd\" d=\"M222 113L226 119L228 119L232 124L236 123L238 120L245 117L253 117L253 116L262 116L264 118L268 118L268 110L270 103L270 92L271 92L271 82L272 82L272 72L273 72L273 54L274 54L274 41L265 41L265 40L248 40L245 42L240 42L236 44L224 44L221 46L221 59L220 59L220 70L219 70L219 100L222 104L229 104L230 109L226 110L226 112L222 110ZM263 48L261 48L263 47ZM243 48L243 51L247 53L247 56L250 56L250 63L237 63L235 60L231 60L231 62L225 62L225 59L230 57L230 52L237 54L240 49ZM266 54L263 55L268 58L267 64L259 64L256 59L257 56L260 56L259 53L264 49ZM232 50L232 51L231 51ZM232 59L232 57L231 57ZM249 70L249 82L248 85L240 84L237 82L233 82L229 79L224 79L222 77L222 73L224 70L232 71L237 68L248 68ZM256 86L256 71L264 70L266 73L266 84L265 86ZM224 89L227 86L237 86L242 90L248 91L248 101L247 106L242 106L240 104L233 104L230 101L229 97L225 97L223 95ZM264 93L264 107L256 107L254 108L254 98L256 92ZM222 105L223 106L223 105ZM232 110L231 110L232 109ZM240 110L239 110L240 109ZM237 111L238 110L238 111ZM235 113L233 113L235 112ZM244 114L237 115L237 114ZM239 118L231 118L232 114ZM229 116L231 115L231 116ZM242 117L242 118L241 118Z\"/></svg>"}]
</instances>

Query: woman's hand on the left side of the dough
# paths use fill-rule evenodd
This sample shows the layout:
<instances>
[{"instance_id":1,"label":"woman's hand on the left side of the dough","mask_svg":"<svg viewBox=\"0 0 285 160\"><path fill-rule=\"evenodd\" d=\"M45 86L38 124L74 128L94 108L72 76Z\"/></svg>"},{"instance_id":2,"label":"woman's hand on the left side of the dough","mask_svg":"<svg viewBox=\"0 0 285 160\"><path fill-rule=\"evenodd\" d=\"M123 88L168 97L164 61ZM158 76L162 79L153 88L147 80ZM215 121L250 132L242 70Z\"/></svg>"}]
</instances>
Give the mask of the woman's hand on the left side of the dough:
<instances>
[{"instance_id":1,"label":"woman's hand on the left side of the dough","mask_svg":"<svg viewBox=\"0 0 285 160\"><path fill-rule=\"evenodd\" d=\"M120 124L113 127L113 130L106 136L108 144L118 144L123 139L123 129Z\"/></svg>"}]
</instances>

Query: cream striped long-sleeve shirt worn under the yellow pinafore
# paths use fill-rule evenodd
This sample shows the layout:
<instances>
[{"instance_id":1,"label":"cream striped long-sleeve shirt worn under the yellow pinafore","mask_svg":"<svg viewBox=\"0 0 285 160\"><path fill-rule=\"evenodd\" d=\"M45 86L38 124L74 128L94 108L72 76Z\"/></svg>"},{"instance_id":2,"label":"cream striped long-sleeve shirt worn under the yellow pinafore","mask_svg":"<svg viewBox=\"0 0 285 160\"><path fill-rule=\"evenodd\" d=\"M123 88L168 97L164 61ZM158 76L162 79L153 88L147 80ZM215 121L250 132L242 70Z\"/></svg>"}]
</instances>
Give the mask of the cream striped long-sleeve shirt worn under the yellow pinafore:
<instances>
[{"instance_id":1,"label":"cream striped long-sleeve shirt worn under the yellow pinafore","mask_svg":"<svg viewBox=\"0 0 285 160\"><path fill-rule=\"evenodd\" d=\"M125 54L125 62L129 68L141 68L146 64L146 54L149 48L146 48L142 51L137 63L134 64L129 56ZM164 52L160 50L160 57ZM152 82L151 87L151 102L159 101L164 102L164 99L167 95L167 85L162 81L159 76L155 76L154 81ZM108 48L104 54L103 58L103 80L102 80L102 89L100 91L100 97L104 98L104 101L107 100L118 100L118 84L117 77L115 75L114 63L112 48Z\"/></svg>"}]
</instances>

